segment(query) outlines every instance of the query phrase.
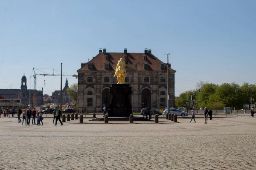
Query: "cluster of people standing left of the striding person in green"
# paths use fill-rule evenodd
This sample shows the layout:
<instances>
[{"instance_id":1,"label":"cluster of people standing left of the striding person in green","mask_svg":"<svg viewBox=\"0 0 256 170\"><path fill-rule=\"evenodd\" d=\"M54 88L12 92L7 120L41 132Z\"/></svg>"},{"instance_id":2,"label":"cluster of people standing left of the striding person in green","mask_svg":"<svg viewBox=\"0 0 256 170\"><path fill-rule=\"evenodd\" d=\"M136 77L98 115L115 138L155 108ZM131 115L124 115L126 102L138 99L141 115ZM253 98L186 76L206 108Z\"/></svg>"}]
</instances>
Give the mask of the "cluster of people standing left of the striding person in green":
<instances>
[{"instance_id":1,"label":"cluster of people standing left of the striding person in green","mask_svg":"<svg viewBox=\"0 0 256 170\"><path fill-rule=\"evenodd\" d=\"M22 114L22 125L25 121L25 125L30 125L30 120L32 117L32 125L44 125L43 124L43 116L42 116L42 111L36 111L36 109L34 108L33 110L31 110L31 108L29 109L25 109L24 112L22 113L22 110L19 108L18 109L18 122L21 123L21 119L20 119L20 115ZM36 120L36 123L35 123Z\"/></svg>"}]
</instances>

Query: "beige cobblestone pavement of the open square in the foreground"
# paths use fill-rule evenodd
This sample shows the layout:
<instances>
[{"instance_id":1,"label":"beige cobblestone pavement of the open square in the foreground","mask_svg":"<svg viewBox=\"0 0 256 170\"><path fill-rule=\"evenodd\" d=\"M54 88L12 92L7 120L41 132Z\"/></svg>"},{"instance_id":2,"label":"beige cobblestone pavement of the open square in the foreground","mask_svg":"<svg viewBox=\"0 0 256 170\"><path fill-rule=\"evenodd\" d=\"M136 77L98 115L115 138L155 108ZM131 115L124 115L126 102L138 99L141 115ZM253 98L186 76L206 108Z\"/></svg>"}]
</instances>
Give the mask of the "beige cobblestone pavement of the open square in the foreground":
<instances>
[{"instance_id":1,"label":"beige cobblestone pavement of the open square in the foreground","mask_svg":"<svg viewBox=\"0 0 256 170\"><path fill-rule=\"evenodd\" d=\"M256 118L25 126L0 118L0 170L255 170Z\"/></svg>"}]
</instances>

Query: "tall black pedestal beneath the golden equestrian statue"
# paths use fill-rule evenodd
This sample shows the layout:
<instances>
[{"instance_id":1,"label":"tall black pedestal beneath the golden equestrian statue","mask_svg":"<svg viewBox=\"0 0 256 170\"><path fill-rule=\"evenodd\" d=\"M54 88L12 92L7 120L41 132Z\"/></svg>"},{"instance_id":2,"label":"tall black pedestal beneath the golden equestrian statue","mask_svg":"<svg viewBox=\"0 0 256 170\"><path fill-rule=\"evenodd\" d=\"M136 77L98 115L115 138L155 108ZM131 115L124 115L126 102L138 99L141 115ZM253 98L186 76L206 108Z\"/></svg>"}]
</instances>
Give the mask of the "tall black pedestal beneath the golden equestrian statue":
<instances>
[{"instance_id":1,"label":"tall black pedestal beneath the golden equestrian statue","mask_svg":"<svg viewBox=\"0 0 256 170\"><path fill-rule=\"evenodd\" d=\"M112 101L108 107L109 117L129 117L132 114L129 96L131 87L128 84L112 84L110 88Z\"/></svg>"}]
</instances>

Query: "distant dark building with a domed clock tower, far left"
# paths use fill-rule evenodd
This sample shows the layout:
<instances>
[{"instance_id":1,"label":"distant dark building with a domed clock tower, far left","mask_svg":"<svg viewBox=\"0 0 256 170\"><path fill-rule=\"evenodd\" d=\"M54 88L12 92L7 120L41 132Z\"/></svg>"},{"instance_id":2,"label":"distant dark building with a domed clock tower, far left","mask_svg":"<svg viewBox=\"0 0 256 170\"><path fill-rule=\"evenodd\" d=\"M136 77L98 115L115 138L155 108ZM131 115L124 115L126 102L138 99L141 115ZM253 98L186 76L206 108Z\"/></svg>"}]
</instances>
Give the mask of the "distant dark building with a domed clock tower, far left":
<instances>
[{"instance_id":1,"label":"distant dark building with a domed clock tower, far left","mask_svg":"<svg viewBox=\"0 0 256 170\"><path fill-rule=\"evenodd\" d=\"M44 104L42 91L27 89L25 74L21 78L20 89L0 89L0 95L5 99L21 99L22 108L41 106Z\"/></svg>"}]
</instances>

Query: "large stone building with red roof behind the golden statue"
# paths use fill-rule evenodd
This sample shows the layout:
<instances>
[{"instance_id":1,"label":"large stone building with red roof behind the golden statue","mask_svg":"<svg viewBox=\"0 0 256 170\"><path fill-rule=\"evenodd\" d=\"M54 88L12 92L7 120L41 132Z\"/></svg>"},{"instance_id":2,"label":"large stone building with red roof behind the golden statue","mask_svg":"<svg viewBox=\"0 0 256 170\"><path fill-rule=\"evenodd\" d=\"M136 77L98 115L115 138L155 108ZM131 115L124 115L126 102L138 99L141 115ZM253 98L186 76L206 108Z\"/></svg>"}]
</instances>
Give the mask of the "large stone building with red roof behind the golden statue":
<instances>
[{"instance_id":1,"label":"large stone building with red roof behind the golden statue","mask_svg":"<svg viewBox=\"0 0 256 170\"><path fill-rule=\"evenodd\" d=\"M87 112L102 111L103 104L108 108L112 95L109 93L112 84L117 83L113 77L118 60L126 64L125 83L131 86L130 102L133 111L150 107L164 109L167 107L167 68L169 69L169 103L175 106L175 70L167 67L145 48L144 53L107 52L99 49L99 54L89 62L81 63L78 72L78 109Z\"/></svg>"}]
</instances>

